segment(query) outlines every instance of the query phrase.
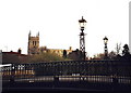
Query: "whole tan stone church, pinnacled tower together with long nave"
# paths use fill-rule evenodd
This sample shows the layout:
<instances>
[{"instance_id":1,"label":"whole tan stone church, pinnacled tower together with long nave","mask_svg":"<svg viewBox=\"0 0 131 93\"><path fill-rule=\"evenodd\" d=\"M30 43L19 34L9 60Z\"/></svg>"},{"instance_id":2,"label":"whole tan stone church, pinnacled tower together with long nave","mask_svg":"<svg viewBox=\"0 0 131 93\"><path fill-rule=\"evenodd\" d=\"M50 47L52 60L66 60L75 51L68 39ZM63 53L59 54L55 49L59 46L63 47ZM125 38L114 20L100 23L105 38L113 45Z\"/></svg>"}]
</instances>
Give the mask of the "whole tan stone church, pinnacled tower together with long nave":
<instances>
[{"instance_id":1,"label":"whole tan stone church, pinnacled tower together with long nave","mask_svg":"<svg viewBox=\"0 0 131 93\"><path fill-rule=\"evenodd\" d=\"M39 46L39 32L36 36L32 36L31 31L28 34L28 46L27 46L27 54L40 54L40 53L56 53L59 56L63 56L63 51L67 51L67 54L71 53L72 46L69 48L69 50L62 50L62 49L48 49L47 46Z\"/></svg>"}]
</instances>

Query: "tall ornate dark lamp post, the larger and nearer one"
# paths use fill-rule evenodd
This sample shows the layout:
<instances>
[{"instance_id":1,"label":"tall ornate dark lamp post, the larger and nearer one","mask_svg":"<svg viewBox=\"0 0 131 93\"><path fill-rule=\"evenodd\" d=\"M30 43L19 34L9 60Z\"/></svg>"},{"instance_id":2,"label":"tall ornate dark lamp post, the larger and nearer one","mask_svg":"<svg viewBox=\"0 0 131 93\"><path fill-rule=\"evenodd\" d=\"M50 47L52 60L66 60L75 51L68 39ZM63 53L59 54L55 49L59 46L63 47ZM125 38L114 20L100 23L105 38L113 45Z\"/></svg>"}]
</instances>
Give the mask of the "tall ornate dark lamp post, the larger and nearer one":
<instances>
[{"instance_id":1,"label":"tall ornate dark lamp post, the larger and nearer one","mask_svg":"<svg viewBox=\"0 0 131 93\"><path fill-rule=\"evenodd\" d=\"M82 16L82 19L79 19L79 24L80 24L80 29L81 29L81 32L80 32L80 52L81 52L81 59L85 59L85 34L83 32L84 28L85 28L85 25L86 25L86 21L83 18Z\"/></svg>"}]
</instances>

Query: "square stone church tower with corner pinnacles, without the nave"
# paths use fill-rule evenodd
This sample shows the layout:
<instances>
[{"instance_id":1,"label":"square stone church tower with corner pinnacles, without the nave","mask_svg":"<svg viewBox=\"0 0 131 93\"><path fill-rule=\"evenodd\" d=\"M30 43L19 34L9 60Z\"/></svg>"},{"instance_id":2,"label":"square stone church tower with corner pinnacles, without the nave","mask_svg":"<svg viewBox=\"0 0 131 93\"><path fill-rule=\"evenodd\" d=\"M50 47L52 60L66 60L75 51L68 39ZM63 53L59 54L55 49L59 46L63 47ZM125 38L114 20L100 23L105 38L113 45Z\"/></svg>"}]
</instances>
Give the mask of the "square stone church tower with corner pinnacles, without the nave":
<instances>
[{"instance_id":1,"label":"square stone church tower with corner pinnacles, without the nave","mask_svg":"<svg viewBox=\"0 0 131 93\"><path fill-rule=\"evenodd\" d=\"M39 32L35 37L33 37L31 36L31 31L29 31L27 53L29 55L39 54Z\"/></svg>"}]
</instances>

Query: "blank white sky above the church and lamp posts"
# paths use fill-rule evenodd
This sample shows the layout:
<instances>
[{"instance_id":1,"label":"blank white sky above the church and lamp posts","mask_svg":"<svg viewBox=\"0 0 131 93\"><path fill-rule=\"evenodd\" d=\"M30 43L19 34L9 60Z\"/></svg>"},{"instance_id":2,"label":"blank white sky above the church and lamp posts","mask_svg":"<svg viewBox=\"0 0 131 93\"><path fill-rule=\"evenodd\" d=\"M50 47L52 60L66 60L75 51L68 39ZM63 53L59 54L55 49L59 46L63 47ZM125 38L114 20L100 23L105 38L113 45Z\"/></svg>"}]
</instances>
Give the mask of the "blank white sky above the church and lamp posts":
<instances>
[{"instance_id":1,"label":"blank white sky above the church and lamp posts","mask_svg":"<svg viewBox=\"0 0 131 93\"><path fill-rule=\"evenodd\" d=\"M40 46L80 49L79 19L87 21L84 32L88 56L104 53L116 43L129 44L130 0L0 0L0 50L22 49L27 54L28 32L40 34Z\"/></svg>"}]
</instances>

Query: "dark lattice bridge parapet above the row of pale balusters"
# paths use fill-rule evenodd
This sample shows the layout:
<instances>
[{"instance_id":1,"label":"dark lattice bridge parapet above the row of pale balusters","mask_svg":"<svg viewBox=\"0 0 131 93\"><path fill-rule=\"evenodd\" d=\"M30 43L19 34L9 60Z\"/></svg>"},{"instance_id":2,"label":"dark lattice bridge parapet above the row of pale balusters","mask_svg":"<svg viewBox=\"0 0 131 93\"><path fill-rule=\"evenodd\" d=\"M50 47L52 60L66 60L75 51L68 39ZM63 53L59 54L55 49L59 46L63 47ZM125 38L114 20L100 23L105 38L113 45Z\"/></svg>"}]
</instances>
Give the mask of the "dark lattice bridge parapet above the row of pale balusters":
<instances>
[{"instance_id":1,"label":"dark lattice bridge parapet above the row of pale balusters","mask_svg":"<svg viewBox=\"0 0 131 93\"><path fill-rule=\"evenodd\" d=\"M131 63L123 61L67 61L13 64L3 67L1 74L9 77L13 74L27 76L131 76Z\"/></svg>"}]
</instances>

